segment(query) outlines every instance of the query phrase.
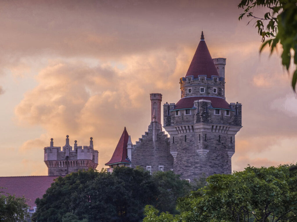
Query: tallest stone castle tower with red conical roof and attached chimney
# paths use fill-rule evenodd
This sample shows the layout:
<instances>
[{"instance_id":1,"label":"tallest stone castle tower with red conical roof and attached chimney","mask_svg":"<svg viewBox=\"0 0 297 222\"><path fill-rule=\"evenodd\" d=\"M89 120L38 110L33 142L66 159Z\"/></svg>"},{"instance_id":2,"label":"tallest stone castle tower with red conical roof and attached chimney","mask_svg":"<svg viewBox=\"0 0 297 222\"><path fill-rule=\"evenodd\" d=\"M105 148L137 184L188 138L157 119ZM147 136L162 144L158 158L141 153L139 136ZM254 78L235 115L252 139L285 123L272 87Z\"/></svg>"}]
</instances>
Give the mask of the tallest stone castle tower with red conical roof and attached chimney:
<instances>
[{"instance_id":1,"label":"tallest stone castle tower with red conical roof and attached chimney","mask_svg":"<svg viewBox=\"0 0 297 222\"><path fill-rule=\"evenodd\" d=\"M225 58L212 59L203 32L185 77L181 99L163 105L173 169L181 178L230 174L241 104L225 100Z\"/></svg>"}]
</instances>

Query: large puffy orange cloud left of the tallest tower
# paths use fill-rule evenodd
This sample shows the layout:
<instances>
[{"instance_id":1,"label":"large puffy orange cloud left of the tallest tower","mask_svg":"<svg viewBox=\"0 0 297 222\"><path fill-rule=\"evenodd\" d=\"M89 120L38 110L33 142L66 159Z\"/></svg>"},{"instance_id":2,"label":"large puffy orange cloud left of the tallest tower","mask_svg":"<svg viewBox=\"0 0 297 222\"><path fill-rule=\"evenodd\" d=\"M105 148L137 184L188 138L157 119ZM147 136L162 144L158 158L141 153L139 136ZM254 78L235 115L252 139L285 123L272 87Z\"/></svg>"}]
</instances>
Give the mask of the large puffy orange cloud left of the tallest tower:
<instances>
[{"instance_id":1,"label":"large puffy orange cloud left of the tallest tower","mask_svg":"<svg viewBox=\"0 0 297 222\"><path fill-rule=\"evenodd\" d=\"M63 146L66 134L82 145L92 136L99 149L99 168L103 167L124 126L135 141L147 130L149 93L161 92L166 99L177 100L170 91L183 75L181 70L189 60L185 55L182 48L179 52L161 49L124 57L114 66L110 62L51 61L36 76L37 86L15 107L20 126L40 125L46 130L40 138L25 141L20 151L40 149L50 137L56 146Z\"/></svg>"}]
</instances>

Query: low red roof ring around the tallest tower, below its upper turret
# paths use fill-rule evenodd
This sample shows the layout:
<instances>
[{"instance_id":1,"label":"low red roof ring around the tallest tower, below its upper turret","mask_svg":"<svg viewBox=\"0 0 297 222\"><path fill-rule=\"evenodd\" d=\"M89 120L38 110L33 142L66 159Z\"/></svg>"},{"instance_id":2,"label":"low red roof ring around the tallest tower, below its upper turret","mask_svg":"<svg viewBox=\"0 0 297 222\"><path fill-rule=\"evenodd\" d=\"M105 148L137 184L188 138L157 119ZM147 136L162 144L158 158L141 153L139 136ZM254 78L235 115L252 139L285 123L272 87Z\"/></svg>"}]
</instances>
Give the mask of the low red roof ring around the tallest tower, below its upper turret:
<instances>
[{"instance_id":1,"label":"low red roof ring around the tallest tower, below its upper turret","mask_svg":"<svg viewBox=\"0 0 297 222\"><path fill-rule=\"evenodd\" d=\"M213 108L219 108L219 109L228 109L230 110L230 105L228 102L226 102L225 99L220 97L211 97L211 96L192 96L192 97L184 97L181 98L176 104L175 104L175 110L178 109L191 109L194 106L195 100L200 99L207 99L211 101L211 106Z\"/></svg>"}]
</instances>

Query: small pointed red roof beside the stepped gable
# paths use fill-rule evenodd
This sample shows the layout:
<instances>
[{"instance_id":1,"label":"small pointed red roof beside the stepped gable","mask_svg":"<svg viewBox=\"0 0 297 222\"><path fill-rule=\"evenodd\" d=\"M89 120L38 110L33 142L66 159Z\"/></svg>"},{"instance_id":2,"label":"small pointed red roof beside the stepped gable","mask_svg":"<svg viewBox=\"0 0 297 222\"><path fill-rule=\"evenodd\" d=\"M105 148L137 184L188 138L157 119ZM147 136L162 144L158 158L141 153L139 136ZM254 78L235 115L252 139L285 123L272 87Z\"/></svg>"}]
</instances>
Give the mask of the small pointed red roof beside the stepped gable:
<instances>
[{"instance_id":1,"label":"small pointed red roof beside the stepped gable","mask_svg":"<svg viewBox=\"0 0 297 222\"><path fill-rule=\"evenodd\" d=\"M131 163L129 160L127 160L128 139L129 135L125 127L111 159L108 161L108 163L105 163L105 165L111 165L114 163Z\"/></svg>"}]
</instances>

